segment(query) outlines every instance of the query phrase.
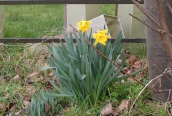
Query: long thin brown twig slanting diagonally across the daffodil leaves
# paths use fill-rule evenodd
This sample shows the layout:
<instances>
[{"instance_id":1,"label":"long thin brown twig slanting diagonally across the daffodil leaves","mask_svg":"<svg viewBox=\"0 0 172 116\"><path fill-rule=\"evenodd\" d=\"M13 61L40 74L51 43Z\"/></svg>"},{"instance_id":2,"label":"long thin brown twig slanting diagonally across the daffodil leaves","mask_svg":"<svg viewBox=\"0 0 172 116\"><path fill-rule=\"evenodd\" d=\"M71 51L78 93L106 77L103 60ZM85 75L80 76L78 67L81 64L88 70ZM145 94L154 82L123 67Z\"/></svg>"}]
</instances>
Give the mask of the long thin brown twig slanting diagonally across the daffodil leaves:
<instances>
[{"instance_id":1,"label":"long thin brown twig slanting diagonally across the daffodil leaves","mask_svg":"<svg viewBox=\"0 0 172 116\"><path fill-rule=\"evenodd\" d=\"M133 80L135 80L137 83L141 84L142 86L145 86L145 84L143 84L142 82L138 81L137 79L135 79L133 76L131 76L130 74L128 74L127 72L125 72L121 67L119 67L114 61L110 60L107 56L105 56L102 52L100 52L95 46L93 46L88 40L87 38L85 38L83 36L83 34L81 34L75 27L73 27L71 24L69 24L75 31L77 31L80 36L83 37L83 39L88 43L88 45L90 45L93 49L95 49L100 55L102 55L104 58L106 58L107 60L109 60L113 65L115 65L118 69L120 69L124 74L126 74L127 76L131 77ZM152 90L154 92L157 92L156 90L154 90L153 88L149 88L147 87L149 90Z\"/></svg>"}]
</instances>

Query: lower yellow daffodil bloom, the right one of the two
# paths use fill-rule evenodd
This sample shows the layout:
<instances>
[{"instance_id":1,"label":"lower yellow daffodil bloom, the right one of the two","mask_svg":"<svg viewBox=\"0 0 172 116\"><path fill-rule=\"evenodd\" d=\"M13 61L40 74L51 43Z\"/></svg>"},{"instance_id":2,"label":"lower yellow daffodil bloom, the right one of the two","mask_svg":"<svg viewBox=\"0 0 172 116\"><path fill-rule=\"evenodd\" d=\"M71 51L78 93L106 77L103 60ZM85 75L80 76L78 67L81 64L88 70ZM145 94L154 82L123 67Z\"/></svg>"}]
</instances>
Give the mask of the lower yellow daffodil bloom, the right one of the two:
<instances>
[{"instance_id":1,"label":"lower yellow daffodil bloom, the right one of the two","mask_svg":"<svg viewBox=\"0 0 172 116\"><path fill-rule=\"evenodd\" d=\"M107 32L108 30L98 30L97 33L94 33L93 37L94 39L96 39L94 45L96 45L97 43L101 43L105 46L108 38L111 38L111 36L107 35Z\"/></svg>"}]
</instances>

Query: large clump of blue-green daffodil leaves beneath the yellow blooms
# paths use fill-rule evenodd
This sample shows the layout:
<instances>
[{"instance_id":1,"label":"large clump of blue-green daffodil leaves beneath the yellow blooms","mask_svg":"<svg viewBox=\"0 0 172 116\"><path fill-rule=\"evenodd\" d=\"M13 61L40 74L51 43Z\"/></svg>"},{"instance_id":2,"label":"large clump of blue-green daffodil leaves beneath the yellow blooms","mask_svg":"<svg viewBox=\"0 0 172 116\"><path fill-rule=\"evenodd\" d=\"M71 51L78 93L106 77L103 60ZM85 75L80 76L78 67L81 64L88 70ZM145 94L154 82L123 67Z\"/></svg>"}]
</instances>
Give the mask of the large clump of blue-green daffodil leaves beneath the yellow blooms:
<instances>
[{"instance_id":1,"label":"large clump of blue-green daffodil leaves beneath the yellow blooms","mask_svg":"<svg viewBox=\"0 0 172 116\"><path fill-rule=\"evenodd\" d=\"M101 95L107 91L108 85L119 76L121 70L110 63L105 57L94 50L83 36L74 31L68 35L63 31L66 44L53 43L49 46L51 57L48 59L50 67L60 81L57 86L52 80L50 83L58 90L54 96L66 96L77 103L96 103ZM84 34L92 44L92 34ZM76 44L74 43L76 39ZM120 33L114 44L107 42L106 46L97 45L96 48L109 59L118 62L123 54ZM122 58L120 67L125 65L125 57Z\"/></svg>"}]
</instances>

